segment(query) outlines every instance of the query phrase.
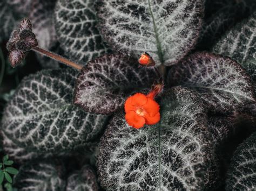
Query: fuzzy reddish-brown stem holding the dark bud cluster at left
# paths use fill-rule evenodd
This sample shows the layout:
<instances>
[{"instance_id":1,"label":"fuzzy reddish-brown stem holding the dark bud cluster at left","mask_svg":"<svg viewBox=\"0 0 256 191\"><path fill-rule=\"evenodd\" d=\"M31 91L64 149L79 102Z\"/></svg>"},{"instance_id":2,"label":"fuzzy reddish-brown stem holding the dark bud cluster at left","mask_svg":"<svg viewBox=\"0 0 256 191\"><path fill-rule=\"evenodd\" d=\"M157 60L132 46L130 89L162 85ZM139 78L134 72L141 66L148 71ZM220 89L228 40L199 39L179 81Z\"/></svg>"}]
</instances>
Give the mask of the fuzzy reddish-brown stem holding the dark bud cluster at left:
<instances>
[{"instance_id":1,"label":"fuzzy reddish-brown stem holding the dark bud cluster at left","mask_svg":"<svg viewBox=\"0 0 256 191\"><path fill-rule=\"evenodd\" d=\"M52 58L54 60L57 60L59 62L62 62L65 65L71 66L73 68L76 68L76 69L79 69L79 70L81 70L83 68L82 66L78 65L75 62L72 62L72 61L70 61L70 60L68 60L68 59L66 59L66 58L64 58L64 57L62 57L62 56L60 56L58 54L55 54L55 53L50 52L50 51L47 51L47 50L45 50L43 48L40 48L38 46L33 47L32 50L35 51L35 52L38 52L40 54L46 55L46 56L48 56L48 57L50 57L50 58Z\"/></svg>"}]
</instances>

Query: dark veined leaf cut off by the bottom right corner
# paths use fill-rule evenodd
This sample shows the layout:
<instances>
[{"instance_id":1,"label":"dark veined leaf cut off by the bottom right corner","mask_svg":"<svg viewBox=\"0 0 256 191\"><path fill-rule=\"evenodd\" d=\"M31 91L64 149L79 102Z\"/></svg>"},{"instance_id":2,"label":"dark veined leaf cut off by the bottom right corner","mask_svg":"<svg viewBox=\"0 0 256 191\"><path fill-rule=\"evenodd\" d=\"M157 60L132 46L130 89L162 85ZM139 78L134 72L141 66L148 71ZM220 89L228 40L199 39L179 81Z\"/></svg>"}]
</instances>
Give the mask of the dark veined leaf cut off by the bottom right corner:
<instances>
[{"instance_id":1,"label":"dark veined leaf cut off by the bottom right corner","mask_svg":"<svg viewBox=\"0 0 256 191\"><path fill-rule=\"evenodd\" d=\"M256 133L234 152L225 190L254 190L256 178Z\"/></svg>"}]
</instances>

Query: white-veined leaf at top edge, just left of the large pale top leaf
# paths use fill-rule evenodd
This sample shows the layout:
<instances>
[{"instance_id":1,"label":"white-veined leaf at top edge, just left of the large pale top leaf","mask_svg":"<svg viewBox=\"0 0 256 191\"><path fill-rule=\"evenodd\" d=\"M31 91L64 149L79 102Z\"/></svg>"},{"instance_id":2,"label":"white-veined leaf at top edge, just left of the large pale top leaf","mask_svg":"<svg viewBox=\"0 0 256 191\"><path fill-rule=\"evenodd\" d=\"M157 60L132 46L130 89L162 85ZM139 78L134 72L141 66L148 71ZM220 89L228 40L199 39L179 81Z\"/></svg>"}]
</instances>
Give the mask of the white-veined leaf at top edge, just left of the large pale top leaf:
<instances>
[{"instance_id":1,"label":"white-veined leaf at top edge, just left of the large pale top leaf","mask_svg":"<svg viewBox=\"0 0 256 191\"><path fill-rule=\"evenodd\" d=\"M93 0L59 0L55 9L60 46L70 59L82 65L110 51L96 27L94 6Z\"/></svg>"}]
</instances>

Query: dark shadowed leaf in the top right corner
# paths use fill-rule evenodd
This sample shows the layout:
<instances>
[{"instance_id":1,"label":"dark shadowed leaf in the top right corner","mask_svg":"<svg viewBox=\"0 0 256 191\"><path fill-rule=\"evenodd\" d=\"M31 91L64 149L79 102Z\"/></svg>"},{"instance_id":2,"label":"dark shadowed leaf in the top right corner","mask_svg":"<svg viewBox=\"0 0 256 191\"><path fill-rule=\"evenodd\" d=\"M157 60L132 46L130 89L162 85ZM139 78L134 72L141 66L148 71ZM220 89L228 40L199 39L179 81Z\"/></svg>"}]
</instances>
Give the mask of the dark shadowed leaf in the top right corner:
<instances>
[{"instance_id":1,"label":"dark shadowed leaf in the top right corner","mask_svg":"<svg viewBox=\"0 0 256 191\"><path fill-rule=\"evenodd\" d=\"M206 0L205 17L198 40L199 48L211 49L226 31L249 17L255 8L254 0Z\"/></svg>"}]
</instances>

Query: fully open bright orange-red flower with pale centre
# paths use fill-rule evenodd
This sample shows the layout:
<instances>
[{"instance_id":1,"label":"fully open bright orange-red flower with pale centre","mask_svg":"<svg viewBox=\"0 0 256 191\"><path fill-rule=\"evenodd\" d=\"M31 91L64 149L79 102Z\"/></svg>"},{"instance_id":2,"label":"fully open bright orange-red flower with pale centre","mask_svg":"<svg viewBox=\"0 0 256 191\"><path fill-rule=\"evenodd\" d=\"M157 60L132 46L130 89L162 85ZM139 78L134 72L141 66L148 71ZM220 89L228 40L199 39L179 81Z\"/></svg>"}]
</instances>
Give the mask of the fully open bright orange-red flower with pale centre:
<instances>
[{"instance_id":1,"label":"fully open bright orange-red flower with pale centre","mask_svg":"<svg viewBox=\"0 0 256 191\"><path fill-rule=\"evenodd\" d=\"M159 104L154 101L155 93L134 94L127 98L124 109L125 119L133 128L142 128L144 124L153 125L160 121Z\"/></svg>"}]
</instances>

